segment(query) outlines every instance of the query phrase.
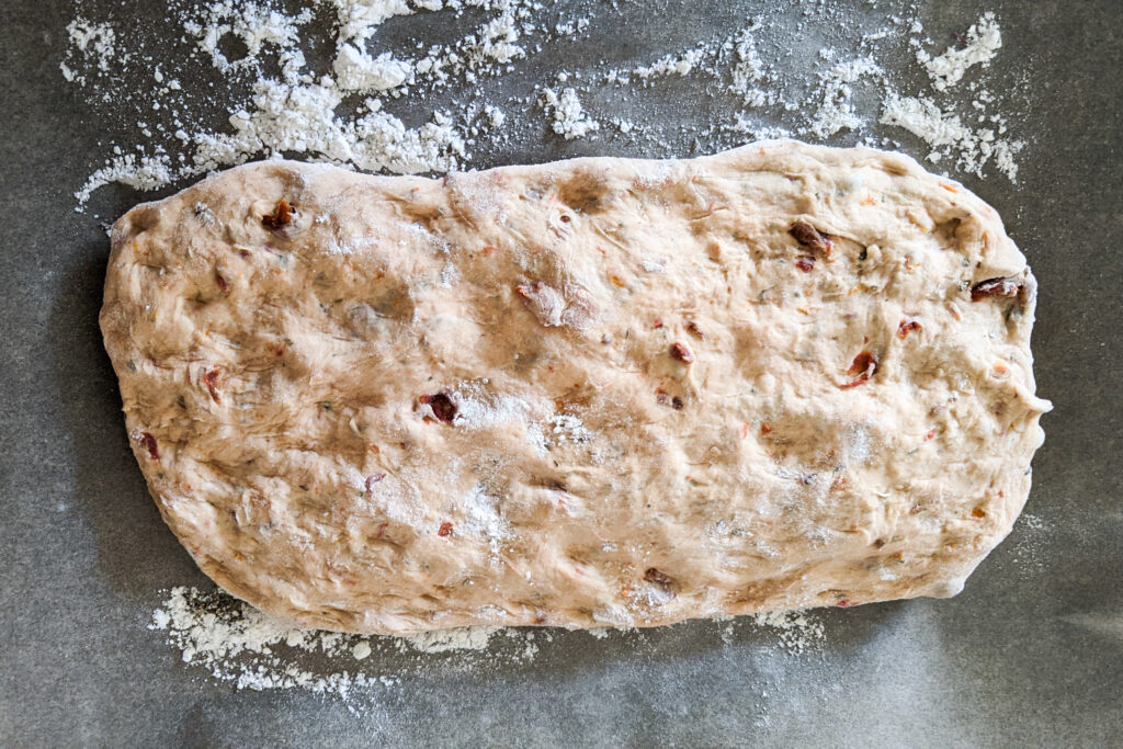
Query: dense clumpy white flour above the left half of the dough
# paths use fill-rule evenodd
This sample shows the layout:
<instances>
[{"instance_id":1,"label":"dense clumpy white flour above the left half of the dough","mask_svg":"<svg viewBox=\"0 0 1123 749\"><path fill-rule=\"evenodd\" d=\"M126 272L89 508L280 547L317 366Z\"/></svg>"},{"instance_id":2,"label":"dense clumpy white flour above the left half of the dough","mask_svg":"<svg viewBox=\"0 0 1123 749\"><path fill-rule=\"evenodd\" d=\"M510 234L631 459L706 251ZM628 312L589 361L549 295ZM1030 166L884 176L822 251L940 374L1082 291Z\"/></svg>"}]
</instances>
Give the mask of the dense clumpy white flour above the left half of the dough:
<instances>
[{"instance_id":1,"label":"dense clumpy white flour above the left half of the dough","mask_svg":"<svg viewBox=\"0 0 1123 749\"><path fill-rule=\"evenodd\" d=\"M137 154L113 157L75 193L80 205L110 182L152 190L263 156L302 155L368 172L413 174L457 168L467 156L467 128L463 121L456 122L449 112L435 109L428 122L408 127L384 111L383 101L374 95L401 95L419 72L426 73L424 82L433 86L450 73L467 79L523 56L524 49L517 42L522 26L529 24L520 19L527 17L526 6L530 3L424 0L411 7L401 0L318 0L313 4L332 8L338 18L329 75L313 75L304 56L309 35L303 30L313 18L313 8L289 15L280 4L265 0L221 0L185 10L181 28L184 39L193 39L231 85L248 81L248 100L235 103L227 128L214 131L203 124L201 112L192 109L198 107L199 92L185 91L179 80L164 81L161 64L179 65L171 60L157 63L141 56L157 83L165 84L157 89L153 109L163 108L172 117L170 125L159 122L155 131L141 122L141 133L149 139L172 135L181 153L173 156L163 146L149 146L153 152L141 147ZM389 51L372 55L366 49L377 27L390 18L442 8L460 11L465 7L486 8L495 17L463 38L431 48L420 61L400 58ZM70 46L61 64L67 81L84 86L86 70L106 72L110 63L127 62L127 55L115 56L116 31L110 24L77 18L67 30ZM236 60L222 52L228 38L241 45ZM273 57L276 72L271 74L267 70ZM107 89L100 100L112 102L118 95ZM368 98L347 110L345 99L356 95ZM212 101L227 103L222 98ZM237 98L231 95L229 101L237 102ZM496 107L489 108L492 127L500 127L504 119Z\"/></svg>"}]
</instances>

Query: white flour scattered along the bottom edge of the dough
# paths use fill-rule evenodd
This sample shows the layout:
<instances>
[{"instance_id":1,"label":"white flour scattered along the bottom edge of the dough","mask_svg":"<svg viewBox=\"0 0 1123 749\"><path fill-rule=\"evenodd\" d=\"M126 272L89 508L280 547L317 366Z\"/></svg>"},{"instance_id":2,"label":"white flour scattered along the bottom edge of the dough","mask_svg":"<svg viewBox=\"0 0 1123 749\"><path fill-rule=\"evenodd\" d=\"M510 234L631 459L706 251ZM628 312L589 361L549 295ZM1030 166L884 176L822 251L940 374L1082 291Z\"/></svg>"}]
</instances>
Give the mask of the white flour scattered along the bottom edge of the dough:
<instances>
[{"instance_id":1,"label":"white flour scattered along the bottom edge of the dough","mask_svg":"<svg viewBox=\"0 0 1123 749\"><path fill-rule=\"evenodd\" d=\"M822 623L804 611L773 612L719 622L731 643L738 622L752 622L778 634L776 646L803 655L824 637ZM237 689L302 689L341 698L358 712L407 675L429 674L433 658L472 670L529 664L549 630L466 627L405 637L345 634L290 627L214 588L175 587L152 612L148 629L159 632L186 665L202 668ZM585 630L596 640L613 633L632 645L646 641L641 630L604 627Z\"/></svg>"}]
</instances>

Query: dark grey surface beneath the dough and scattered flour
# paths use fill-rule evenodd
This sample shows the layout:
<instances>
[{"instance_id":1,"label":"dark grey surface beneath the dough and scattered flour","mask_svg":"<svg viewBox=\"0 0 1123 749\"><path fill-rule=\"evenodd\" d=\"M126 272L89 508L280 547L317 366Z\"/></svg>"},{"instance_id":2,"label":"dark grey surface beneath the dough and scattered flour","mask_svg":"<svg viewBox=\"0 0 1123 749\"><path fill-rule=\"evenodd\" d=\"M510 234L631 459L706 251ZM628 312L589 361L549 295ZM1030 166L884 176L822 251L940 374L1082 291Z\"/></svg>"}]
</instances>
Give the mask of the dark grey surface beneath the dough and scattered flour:
<instances>
[{"instance_id":1,"label":"dark grey surface beneath the dough and scattered flour","mask_svg":"<svg viewBox=\"0 0 1123 749\"><path fill-rule=\"evenodd\" d=\"M604 640L562 632L520 665L371 664L403 676L354 714L303 692L217 684L144 627L162 588L206 581L161 522L128 450L97 327L108 243L94 219L74 212L72 197L104 157L99 141L140 136L64 85L70 3L0 1L0 743L1123 741L1123 11L1117 0L933 4L922 11L933 36L996 10L1006 48L993 77L1026 90L1015 117L1031 146L1019 183L964 181L1001 211L1041 282L1037 372L1057 408L1034 462L1028 512L1039 522L1020 522L956 599L824 612L825 640L802 656L752 628L723 642L712 623ZM113 8L118 19L164 12L137 1L82 6L91 15ZM569 58L536 57L536 80L563 62L649 58L723 33L756 6L651 7L601 13L587 39L566 48ZM440 30L422 18L398 28ZM797 35L792 44L815 51ZM528 75L502 85L529 91ZM728 97L692 86L660 89L643 116L701 122L732 111ZM519 121L523 136L504 149L476 148L474 164L691 155L733 144L696 143L690 133L669 135L665 147L563 143L535 130L540 113ZM115 217L139 198L106 190L93 208Z\"/></svg>"}]
</instances>

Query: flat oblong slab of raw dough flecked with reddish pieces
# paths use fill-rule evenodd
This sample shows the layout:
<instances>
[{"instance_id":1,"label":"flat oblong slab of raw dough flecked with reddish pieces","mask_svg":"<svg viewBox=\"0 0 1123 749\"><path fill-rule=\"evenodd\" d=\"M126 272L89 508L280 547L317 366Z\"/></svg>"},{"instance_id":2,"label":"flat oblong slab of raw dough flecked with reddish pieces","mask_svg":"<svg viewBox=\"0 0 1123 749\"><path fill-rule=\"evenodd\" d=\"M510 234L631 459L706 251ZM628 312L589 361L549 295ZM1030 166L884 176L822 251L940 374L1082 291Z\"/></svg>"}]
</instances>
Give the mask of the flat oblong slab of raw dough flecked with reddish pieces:
<instances>
[{"instance_id":1,"label":"flat oblong slab of raw dough flecked with reddish pieces","mask_svg":"<svg viewBox=\"0 0 1123 749\"><path fill-rule=\"evenodd\" d=\"M380 177L248 164L113 228L153 496L308 627L646 627L958 592L1049 403L998 216L766 141Z\"/></svg>"}]
</instances>

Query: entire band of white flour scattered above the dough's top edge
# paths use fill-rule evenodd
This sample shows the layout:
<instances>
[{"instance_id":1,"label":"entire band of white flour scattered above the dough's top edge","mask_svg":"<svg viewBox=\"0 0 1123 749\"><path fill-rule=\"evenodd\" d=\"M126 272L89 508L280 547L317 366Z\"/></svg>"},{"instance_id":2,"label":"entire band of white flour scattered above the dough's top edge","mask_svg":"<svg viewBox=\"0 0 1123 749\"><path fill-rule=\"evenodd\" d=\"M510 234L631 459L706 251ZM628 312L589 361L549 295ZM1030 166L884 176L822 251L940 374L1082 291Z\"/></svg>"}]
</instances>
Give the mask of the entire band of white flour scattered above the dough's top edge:
<instances>
[{"instance_id":1,"label":"entire band of white flour scattered above the dough's top edge","mask_svg":"<svg viewBox=\"0 0 1123 749\"><path fill-rule=\"evenodd\" d=\"M892 138L875 135L880 128L920 137L937 168L983 176L984 168L993 166L1014 180L1016 156L1025 147L1007 135L1005 117L993 113L1003 104L982 81L970 83L966 110L962 97L947 99L967 71L988 67L1002 48L1001 28L990 12L970 26L960 47L938 56L925 49L932 42L923 37L919 20L886 15L880 28L856 26L849 48L824 47L796 60L785 43L793 22L795 33L806 38L816 24L831 30L846 26L839 22L838 9L809 6L796 13L776 6L746 19L728 36L700 39L652 63L563 70L554 74L553 86L531 81L531 91L500 102L483 99L485 77L514 74L512 80L521 81L524 72L537 71L529 62L535 55L547 45L570 44L595 31L595 19L565 13L557 18L549 6L535 0L313 0L300 10L280 0L173 4L176 12L166 21L171 28L130 28L128 51L120 42L121 27L111 20L80 16L66 27L63 77L86 92L91 106L143 111L141 102L147 101L152 112L150 118L121 116L121 126L135 124L144 140L124 153L113 146L116 153L75 193L79 210L109 183L153 190L280 155L368 172L464 168L472 163L476 138L508 144L514 136L528 137L536 100L553 136L596 138L611 128L603 137L647 143L667 155L677 155L667 140L670 135L693 137L695 144L709 139L732 145L728 136L823 140L853 134L862 143L898 147ZM380 38L380 28L391 19L435 12L472 12L477 20L460 35L413 48L392 49ZM330 17L335 25L325 29L322 21ZM893 40L902 36L931 77L930 92L904 90L886 72L884 55L896 49ZM186 60L183 49L190 53ZM320 61L326 55L327 72L305 54ZM190 73L184 80L194 81L202 74L198 66L190 68L197 60L218 71L217 83L182 84L182 76ZM138 74L143 86L122 85ZM637 100L639 92L685 75L696 81L691 85L714 92L715 101L728 92L725 99L734 98L733 110L703 126L649 118ZM437 98L449 86L463 95ZM606 86L621 90L621 95L609 98L613 110L586 109L583 102L590 94ZM391 106L398 100L422 104L428 118L407 119ZM219 127L211 116L216 108L226 112ZM621 110L628 116L619 116ZM700 108L692 104L686 119L696 111Z\"/></svg>"}]
</instances>

